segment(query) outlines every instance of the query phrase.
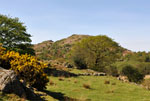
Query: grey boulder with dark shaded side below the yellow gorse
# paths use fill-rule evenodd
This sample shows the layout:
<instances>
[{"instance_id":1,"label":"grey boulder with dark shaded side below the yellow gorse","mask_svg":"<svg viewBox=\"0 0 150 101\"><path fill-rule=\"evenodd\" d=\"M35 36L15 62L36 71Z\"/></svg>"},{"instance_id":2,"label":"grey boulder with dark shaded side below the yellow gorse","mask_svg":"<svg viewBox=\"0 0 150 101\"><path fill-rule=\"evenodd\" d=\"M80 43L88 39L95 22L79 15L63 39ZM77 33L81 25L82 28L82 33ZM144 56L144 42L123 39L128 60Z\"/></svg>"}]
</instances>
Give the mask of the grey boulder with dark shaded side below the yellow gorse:
<instances>
[{"instance_id":1,"label":"grey boulder with dark shaded side below the yellow gorse","mask_svg":"<svg viewBox=\"0 0 150 101\"><path fill-rule=\"evenodd\" d=\"M18 96L26 96L22 83L12 70L0 67L0 91L4 93L15 93Z\"/></svg>"}]
</instances>

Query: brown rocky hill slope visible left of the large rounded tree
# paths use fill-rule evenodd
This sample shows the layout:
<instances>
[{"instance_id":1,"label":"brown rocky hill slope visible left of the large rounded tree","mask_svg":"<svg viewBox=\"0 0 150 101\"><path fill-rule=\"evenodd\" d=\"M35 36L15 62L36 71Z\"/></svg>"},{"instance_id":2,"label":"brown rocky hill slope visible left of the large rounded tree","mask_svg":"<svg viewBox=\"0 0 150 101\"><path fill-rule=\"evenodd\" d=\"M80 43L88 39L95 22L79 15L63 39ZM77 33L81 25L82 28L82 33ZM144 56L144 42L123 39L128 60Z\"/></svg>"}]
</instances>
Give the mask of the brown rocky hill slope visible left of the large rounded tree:
<instances>
[{"instance_id":1,"label":"brown rocky hill slope visible left of the large rounded tree","mask_svg":"<svg viewBox=\"0 0 150 101\"><path fill-rule=\"evenodd\" d=\"M80 40L89 37L89 35L74 34L68 38L53 42L51 40L44 41L34 45L36 55L42 60L51 60L57 58L65 58L70 51L72 45Z\"/></svg>"}]
</instances>

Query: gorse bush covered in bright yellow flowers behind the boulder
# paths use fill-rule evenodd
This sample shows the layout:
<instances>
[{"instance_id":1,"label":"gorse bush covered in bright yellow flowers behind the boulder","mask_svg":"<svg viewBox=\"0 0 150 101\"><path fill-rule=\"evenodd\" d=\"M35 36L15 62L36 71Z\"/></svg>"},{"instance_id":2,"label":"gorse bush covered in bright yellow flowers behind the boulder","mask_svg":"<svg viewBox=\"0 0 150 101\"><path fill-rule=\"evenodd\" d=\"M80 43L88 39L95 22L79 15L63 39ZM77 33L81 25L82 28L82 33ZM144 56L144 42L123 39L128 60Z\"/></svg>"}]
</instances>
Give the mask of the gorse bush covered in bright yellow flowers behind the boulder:
<instances>
[{"instance_id":1,"label":"gorse bush covered in bright yellow flowers behind the boulder","mask_svg":"<svg viewBox=\"0 0 150 101\"><path fill-rule=\"evenodd\" d=\"M44 89L48 80L47 75L44 73L46 64L39 62L35 56L28 54L20 55L14 51L7 51L0 46L0 58L4 61L1 63L3 68L9 68L19 75L20 79L26 81L30 86L37 89ZM9 64L9 65L8 65Z\"/></svg>"}]
</instances>

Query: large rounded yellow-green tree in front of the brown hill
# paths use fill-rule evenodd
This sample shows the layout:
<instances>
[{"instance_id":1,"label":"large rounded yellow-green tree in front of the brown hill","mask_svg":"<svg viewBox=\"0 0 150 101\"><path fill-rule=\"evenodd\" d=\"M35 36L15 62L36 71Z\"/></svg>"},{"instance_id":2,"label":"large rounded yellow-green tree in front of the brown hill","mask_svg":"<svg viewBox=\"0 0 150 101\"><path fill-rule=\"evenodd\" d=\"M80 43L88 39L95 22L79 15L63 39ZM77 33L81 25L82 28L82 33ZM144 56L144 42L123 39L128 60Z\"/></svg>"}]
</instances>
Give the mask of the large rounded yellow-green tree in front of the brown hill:
<instances>
[{"instance_id":1,"label":"large rounded yellow-green tree in front of the brown hill","mask_svg":"<svg viewBox=\"0 0 150 101\"><path fill-rule=\"evenodd\" d=\"M70 53L75 65L105 72L105 67L119 58L120 46L111 38L100 35L91 36L74 45Z\"/></svg>"}]
</instances>

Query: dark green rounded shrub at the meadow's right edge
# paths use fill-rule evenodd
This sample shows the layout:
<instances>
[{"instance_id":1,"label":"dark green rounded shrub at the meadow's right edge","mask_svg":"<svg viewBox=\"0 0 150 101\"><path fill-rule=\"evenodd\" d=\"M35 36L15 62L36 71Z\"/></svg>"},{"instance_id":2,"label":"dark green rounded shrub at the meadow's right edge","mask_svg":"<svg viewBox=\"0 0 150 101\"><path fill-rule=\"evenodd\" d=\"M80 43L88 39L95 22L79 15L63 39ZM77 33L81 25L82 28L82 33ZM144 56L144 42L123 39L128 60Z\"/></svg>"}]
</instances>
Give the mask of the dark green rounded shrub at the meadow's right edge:
<instances>
[{"instance_id":1,"label":"dark green rounded shrub at the meadow's right edge","mask_svg":"<svg viewBox=\"0 0 150 101\"><path fill-rule=\"evenodd\" d=\"M127 76L130 82L141 82L144 75L131 65L126 65L122 69L122 74Z\"/></svg>"}]
</instances>

